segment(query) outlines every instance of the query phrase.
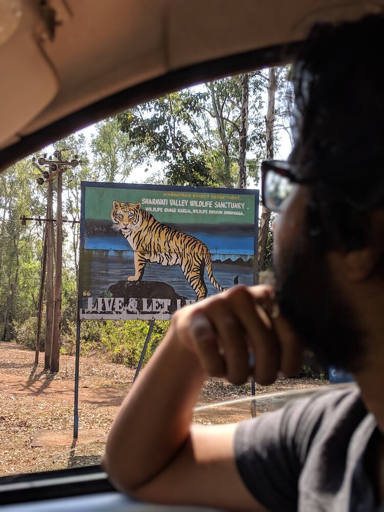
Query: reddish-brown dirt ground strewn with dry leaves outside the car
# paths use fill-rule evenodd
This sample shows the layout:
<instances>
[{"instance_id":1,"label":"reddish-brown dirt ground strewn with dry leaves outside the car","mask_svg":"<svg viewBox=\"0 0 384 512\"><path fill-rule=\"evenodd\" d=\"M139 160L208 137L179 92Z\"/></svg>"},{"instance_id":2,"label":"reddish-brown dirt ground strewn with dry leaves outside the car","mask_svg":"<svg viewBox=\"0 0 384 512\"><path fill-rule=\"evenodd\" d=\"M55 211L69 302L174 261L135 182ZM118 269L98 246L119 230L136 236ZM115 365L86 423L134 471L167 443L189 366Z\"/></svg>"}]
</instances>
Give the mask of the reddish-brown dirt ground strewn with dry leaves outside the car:
<instances>
[{"instance_id":1,"label":"reddish-brown dirt ground strewn with dry leaves outside the car","mask_svg":"<svg viewBox=\"0 0 384 512\"><path fill-rule=\"evenodd\" d=\"M97 464L106 434L129 392L135 370L116 365L100 355L80 357L79 435L73 440L75 357L60 356L56 375L44 371L44 353L35 354L14 343L0 342L0 476ZM324 386L317 379L280 379L257 387L262 398L257 414L274 407L267 395L276 391ZM235 387L209 379L198 406L249 397L250 384ZM151 403L148 403L151 407ZM224 404L195 414L198 423L228 423L251 417L249 401Z\"/></svg>"}]
</instances>

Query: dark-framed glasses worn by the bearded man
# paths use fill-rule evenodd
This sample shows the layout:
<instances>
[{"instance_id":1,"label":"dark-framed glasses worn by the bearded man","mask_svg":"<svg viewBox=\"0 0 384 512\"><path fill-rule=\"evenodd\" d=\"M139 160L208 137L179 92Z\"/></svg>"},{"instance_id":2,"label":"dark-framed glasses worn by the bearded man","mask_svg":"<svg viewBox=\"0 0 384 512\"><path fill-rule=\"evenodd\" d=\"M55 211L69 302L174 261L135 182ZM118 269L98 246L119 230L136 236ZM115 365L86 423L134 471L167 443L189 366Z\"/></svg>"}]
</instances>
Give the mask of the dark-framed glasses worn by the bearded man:
<instances>
[{"instance_id":1,"label":"dark-framed glasses worn by the bearded man","mask_svg":"<svg viewBox=\"0 0 384 512\"><path fill-rule=\"evenodd\" d=\"M261 164L261 198L268 210L284 211L297 186L309 183L312 181L299 179L292 173L289 162L265 160Z\"/></svg>"}]
</instances>

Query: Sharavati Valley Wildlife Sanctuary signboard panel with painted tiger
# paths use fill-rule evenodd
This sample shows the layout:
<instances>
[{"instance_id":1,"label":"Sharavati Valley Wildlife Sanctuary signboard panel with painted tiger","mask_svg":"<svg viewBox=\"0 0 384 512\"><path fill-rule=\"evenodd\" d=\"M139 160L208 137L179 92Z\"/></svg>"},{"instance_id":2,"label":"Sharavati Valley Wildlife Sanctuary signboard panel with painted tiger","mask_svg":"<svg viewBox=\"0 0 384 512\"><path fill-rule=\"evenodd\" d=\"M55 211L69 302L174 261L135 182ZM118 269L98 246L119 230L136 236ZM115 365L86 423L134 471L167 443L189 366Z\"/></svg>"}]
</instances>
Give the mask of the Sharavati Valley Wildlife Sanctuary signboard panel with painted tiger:
<instances>
[{"instance_id":1,"label":"Sharavati Valley Wildlife Sanctuary signboard panel with painted tiger","mask_svg":"<svg viewBox=\"0 0 384 512\"><path fill-rule=\"evenodd\" d=\"M255 282L258 190L81 186L80 319L169 319Z\"/></svg>"}]
</instances>

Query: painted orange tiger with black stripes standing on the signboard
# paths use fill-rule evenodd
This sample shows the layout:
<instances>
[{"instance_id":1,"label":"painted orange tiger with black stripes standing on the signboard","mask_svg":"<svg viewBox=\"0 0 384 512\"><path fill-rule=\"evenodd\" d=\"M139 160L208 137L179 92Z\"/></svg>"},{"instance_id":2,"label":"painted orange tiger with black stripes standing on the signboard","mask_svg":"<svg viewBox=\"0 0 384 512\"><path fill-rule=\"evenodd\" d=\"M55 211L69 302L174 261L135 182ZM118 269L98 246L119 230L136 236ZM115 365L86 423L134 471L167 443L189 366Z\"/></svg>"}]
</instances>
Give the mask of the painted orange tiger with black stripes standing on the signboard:
<instances>
[{"instance_id":1,"label":"painted orange tiger with black stripes standing on the signboard","mask_svg":"<svg viewBox=\"0 0 384 512\"><path fill-rule=\"evenodd\" d=\"M212 272L209 249L201 240L157 221L141 209L141 203L113 201L112 205L112 229L121 231L134 251L135 274L129 275L127 281L140 281L146 263L153 262L169 267L180 265L198 301L207 295L204 268L212 285L224 291Z\"/></svg>"}]
</instances>

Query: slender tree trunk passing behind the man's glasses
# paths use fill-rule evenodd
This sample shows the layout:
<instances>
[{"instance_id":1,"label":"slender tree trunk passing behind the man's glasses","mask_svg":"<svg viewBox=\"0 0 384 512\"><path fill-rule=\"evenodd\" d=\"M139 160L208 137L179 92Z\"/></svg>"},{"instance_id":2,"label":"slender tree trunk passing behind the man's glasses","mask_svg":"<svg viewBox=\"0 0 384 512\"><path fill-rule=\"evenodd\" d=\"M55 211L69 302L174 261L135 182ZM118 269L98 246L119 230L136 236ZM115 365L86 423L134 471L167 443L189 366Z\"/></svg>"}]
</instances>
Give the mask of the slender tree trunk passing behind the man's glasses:
<instances>
[{"instance_id":1,"label":"slender tree trunk passing behind the man's glasses","mask_svg":"<svg viewBox=\"0 0 384 512\"><path fill-rule=\"evenodd\" d=\"M268 77L268 106L267 116L265 118L266 141L267 141L267 160L273 158L273 127L274 127L274 100L276 93L276 68L269 68ZM258 248L258 267L259 272L263 269L265 247L268 238L269 222L271 212L263 206L260 227L259 227L259 248Z\"/></svg>"}]
</instances>

